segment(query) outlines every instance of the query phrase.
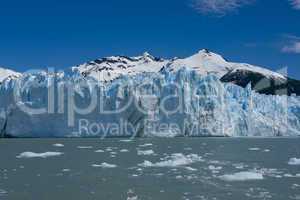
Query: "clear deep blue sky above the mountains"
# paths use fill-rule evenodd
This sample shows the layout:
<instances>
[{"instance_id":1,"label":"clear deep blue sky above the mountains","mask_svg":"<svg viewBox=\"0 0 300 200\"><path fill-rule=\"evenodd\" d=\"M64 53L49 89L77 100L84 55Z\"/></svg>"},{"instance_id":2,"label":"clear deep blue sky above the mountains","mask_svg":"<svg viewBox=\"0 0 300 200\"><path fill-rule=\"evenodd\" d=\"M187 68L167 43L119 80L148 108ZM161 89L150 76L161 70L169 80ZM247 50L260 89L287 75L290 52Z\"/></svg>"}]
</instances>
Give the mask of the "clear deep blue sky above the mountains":
<instances>
[{"instance_id":1,"label":"clear deep blue sky above the mountains","mask_svg":"<svg viewBox=\"0 0 300 200\"><path fill-rule=\"evenodd\" d=\"M17 71L208 48L300 79L300 0L10 0L0 24L0 66Z\"/></svg>"}]
</instances>

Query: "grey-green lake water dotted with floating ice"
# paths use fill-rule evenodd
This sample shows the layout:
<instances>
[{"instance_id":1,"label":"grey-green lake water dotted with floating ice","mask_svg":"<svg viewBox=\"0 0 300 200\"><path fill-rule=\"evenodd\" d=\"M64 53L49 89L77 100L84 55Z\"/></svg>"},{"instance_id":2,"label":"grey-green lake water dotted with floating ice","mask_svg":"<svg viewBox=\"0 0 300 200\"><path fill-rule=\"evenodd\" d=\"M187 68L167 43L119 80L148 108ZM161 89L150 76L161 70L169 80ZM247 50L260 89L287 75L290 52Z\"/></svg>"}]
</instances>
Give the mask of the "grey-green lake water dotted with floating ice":
<instances>
[{"instance_id":1,"label":"grey-green lake water dotted with floating ice","mask_svg":"<svg viewBox=\"0 0 300 200\"><path fill-rule=\"evenodd\" d=\"M0 199L300 199L297 158L300 138L0 139Z\"/></svg>"}]
</instances>

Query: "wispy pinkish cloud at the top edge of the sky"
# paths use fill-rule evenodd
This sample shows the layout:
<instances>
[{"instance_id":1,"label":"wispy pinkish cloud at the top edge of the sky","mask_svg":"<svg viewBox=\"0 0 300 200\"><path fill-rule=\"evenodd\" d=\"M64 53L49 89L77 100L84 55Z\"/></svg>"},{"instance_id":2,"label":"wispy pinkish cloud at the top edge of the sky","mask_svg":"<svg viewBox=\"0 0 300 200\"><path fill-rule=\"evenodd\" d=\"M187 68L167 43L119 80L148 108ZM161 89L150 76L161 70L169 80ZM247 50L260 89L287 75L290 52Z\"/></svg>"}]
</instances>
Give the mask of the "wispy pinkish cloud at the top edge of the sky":
<instances>
[{"instance_id":1,"label":"wispy pinkish cloud at the top edge of the sky","mask_svg":"<svg viewBox=\"0 0 300 200\"><path fill-rule=\"evenodd\" d=\"M255 0L194 0L192 7L202 14L224 16Z\"/></svg>"}]
</instances>

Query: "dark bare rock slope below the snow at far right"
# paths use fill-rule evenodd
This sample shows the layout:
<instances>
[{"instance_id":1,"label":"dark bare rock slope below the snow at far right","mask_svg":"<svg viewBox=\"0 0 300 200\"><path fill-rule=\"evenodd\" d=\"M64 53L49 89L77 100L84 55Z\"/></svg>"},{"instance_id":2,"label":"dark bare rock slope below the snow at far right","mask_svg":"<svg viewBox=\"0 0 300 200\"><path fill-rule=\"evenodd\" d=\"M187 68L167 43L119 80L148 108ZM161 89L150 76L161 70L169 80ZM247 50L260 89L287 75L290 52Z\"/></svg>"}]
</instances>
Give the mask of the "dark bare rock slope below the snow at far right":
<instances>
[{"instance_id":1,"label":"dark bare rock slope below the snow at far right","mask_svg":"<svg viewBox=\"0 0 300 200\"><path fill-rule=\"evenodd\" d=\"M234 83L241 87L246 87L251 83L253 90L261 94L300 95L300 81L298 80L291 78L279 79L266 77L263 74L248 70L228 72L221 78L221 81Z\"/></svg>"}]
</instances>

